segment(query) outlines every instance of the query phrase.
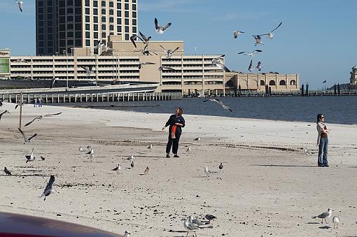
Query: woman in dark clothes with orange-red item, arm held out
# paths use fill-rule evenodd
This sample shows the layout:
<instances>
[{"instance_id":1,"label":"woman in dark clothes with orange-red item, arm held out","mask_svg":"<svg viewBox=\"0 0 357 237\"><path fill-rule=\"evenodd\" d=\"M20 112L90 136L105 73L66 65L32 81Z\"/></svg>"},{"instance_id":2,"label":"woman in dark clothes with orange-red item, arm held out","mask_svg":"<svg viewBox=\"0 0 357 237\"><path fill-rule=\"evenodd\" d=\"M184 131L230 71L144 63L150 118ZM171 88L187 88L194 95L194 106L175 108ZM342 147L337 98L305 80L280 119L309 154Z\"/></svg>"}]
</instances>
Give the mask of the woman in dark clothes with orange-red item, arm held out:
<instances>
[{"instance_id":1,"label":"woman in dark clothes with orange-red item, arm held out","mask_svg":"<svg viewBox=\"0 0 357 237\"><path fill-rule=\"evenodd\" d=\"M166 145L166 158L170 157L171 147L174 157L179 157L177 155L177 150L179 150L181 128L185 127L185 120L183 119L182 114L183 109L180 107L176 108L175 114L169 117L169 120L167 120L165 126L162 128L162 130L164 130L169 126L169 141L167 141Z\"/></svg>"}]
</instances>

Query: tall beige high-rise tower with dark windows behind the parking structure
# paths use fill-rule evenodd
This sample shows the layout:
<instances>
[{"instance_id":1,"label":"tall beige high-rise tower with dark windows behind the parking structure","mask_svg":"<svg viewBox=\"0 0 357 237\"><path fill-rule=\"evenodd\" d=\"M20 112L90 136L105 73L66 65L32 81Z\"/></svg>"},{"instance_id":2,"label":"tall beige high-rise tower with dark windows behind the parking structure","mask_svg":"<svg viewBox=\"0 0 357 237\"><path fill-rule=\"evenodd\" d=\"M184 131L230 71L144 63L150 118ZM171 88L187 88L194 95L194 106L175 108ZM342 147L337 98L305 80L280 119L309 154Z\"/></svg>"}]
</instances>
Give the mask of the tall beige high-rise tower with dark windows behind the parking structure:
<instances>
[{"instance_id":1,"label":"tall beige high-rise tower with dark windows behind the parking structure","mask_svg":"<svg viewBox=\"0 0 357 237\"><path fill-rule=\"evenodd\" d=\"M72 54L137 34L137 0L36 0L36 55Z\"/></svg>"}]
</instances>

